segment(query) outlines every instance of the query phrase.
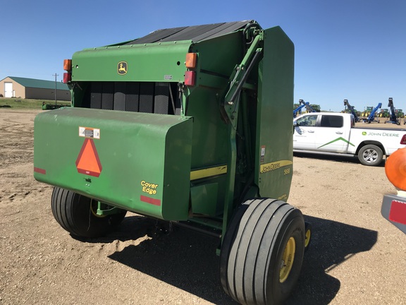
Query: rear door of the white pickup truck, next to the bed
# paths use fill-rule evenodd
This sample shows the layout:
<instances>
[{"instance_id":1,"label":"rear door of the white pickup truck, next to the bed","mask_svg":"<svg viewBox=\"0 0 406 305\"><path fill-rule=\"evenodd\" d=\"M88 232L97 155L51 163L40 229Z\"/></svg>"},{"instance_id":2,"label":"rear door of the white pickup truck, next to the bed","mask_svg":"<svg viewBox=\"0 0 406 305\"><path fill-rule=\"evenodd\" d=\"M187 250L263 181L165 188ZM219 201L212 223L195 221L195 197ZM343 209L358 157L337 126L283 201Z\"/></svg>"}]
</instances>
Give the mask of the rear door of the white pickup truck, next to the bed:
<instances>
[{"instance_id":1,"label":"rear door of the white pickup truck, next to the bed","mask_svg":"<svg viewBox=\"0 0 406 305\"><path fill-rule=\"evenodd\" d=\"M350 129L350 126L344 126L343 116L323 114L314 137L316 150L347 152Z\"/></svg>"}]
</instances>

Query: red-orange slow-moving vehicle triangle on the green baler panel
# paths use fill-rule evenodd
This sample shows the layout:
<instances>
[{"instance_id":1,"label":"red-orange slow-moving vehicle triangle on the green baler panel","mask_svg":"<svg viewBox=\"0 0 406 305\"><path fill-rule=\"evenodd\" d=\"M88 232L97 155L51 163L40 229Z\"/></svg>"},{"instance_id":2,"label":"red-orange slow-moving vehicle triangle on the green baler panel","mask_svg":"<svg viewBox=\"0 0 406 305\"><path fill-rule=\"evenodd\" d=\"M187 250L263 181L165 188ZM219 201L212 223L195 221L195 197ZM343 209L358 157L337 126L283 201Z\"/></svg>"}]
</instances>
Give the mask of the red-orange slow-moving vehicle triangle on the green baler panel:
<instances>
[{"instance_id":1,"label":"red-orange slow-moving vehicle triangle on the green baler panel","mask_svg":"<svg viewBox=\"0 0 406 305\"><path fill-rule=\"evenodd\" d=\"M93 177L100 176L101 163L93 139L85 138L85 142L76 160L76 168L80 174L87 174Z\"/></svg>"}]
</instances>

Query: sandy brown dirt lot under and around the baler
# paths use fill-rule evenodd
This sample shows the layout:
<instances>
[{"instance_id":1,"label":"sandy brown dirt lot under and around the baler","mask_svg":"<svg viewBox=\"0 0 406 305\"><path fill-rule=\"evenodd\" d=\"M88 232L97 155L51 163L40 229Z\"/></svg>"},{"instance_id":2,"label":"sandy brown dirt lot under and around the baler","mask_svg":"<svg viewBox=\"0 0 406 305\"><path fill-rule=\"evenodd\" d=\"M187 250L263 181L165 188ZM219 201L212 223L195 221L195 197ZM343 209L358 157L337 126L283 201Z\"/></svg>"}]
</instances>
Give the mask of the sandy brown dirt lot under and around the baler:
<instances>
[{"instance_id":1,"label":"sandy brown dirt lot under and around the baler","mask_svg":"<svg viewBox=\"0 0 406 305\"><path fill-rule=\"evenodd\" d=\"M32 178L37 113L0 109L0 304L235 304L214 237L135 214L104 239L59 227L51 186ZM295 155L289 202L314 237L288 304L406 304L406 236L380 214L393 190L383 166Z\"/></svg>"}]
</instances>

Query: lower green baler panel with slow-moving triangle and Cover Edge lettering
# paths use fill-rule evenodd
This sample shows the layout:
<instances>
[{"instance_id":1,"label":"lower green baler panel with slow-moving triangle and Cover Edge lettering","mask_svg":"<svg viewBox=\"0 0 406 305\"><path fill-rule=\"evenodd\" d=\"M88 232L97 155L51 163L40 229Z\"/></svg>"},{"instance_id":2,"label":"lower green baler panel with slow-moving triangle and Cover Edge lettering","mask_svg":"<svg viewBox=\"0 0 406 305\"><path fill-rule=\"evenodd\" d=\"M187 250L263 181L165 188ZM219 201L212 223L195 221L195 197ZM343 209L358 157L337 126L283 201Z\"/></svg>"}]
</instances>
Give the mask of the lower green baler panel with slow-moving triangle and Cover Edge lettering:
<instances>
[{"instance_id":1,"label":"lower green baler panel with slow-moving triangle and Cover Edge lettering","mask_svg":"<svg viewBox=\"0 0 406 305\"><path fill-rule=\"evenodd\" d=\"M66 108L35 118L38 181L164 220L187 220L192 119Z\"/></svg>"}]
</instances>

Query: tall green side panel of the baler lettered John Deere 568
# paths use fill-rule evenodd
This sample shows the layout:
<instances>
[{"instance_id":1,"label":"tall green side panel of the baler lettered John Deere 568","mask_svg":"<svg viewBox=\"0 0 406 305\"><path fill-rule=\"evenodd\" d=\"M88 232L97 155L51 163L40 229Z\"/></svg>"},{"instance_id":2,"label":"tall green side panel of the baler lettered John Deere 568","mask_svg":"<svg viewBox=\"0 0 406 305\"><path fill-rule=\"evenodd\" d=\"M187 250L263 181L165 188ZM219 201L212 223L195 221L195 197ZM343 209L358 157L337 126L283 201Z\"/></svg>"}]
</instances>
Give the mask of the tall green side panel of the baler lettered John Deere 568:
<instances>
[{"instance_id":1,"label":"tall green side panel of the baler lettered John Deere 568","mask_svg":"<svg viewBox=\"0 0 406 305\"><path fill-rule=\"evenodd\" d=\"M259 63L255 181L260 196L286 201L293 175L294 45L279 27L265 30Z\"/></svg>"}]
</instances>

